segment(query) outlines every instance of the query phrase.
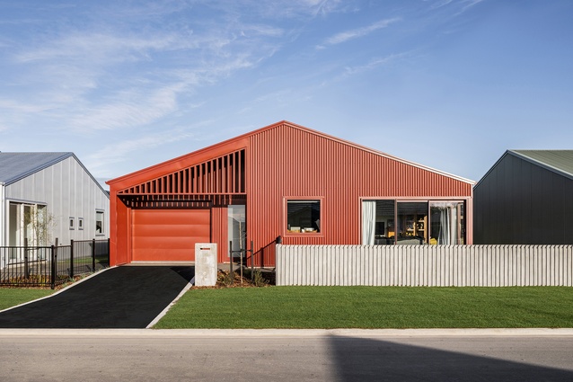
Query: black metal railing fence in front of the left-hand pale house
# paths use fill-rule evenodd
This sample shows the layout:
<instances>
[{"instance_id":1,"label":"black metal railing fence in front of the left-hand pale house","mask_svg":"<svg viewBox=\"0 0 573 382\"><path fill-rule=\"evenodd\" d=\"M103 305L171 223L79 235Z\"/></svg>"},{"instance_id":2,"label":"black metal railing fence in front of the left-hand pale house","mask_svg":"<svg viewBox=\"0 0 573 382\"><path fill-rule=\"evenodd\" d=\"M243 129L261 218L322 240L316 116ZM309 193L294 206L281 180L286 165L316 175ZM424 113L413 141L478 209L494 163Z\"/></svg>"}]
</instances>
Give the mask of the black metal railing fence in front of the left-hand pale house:
<instances>
[{"instance_id":1,"label":"black metal railing fence in front of the left-hand pale house","mask_svg":"<svg viewBox=\"0 0 573 382\"><path fill-rule=\"evenodd\" d=\"M0 247L0 285L56 288L75 276L110 266L110 239L57 246Z\"/></svg>"}]
</instances>

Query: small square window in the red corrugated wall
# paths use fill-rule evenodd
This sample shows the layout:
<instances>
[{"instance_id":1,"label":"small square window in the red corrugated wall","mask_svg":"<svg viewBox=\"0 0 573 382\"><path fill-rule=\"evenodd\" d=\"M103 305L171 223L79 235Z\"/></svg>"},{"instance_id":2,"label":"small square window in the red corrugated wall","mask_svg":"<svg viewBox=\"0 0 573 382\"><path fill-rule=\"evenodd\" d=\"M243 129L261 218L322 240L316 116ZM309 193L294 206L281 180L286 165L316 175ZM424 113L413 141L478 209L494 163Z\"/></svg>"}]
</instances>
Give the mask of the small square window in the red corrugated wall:
<instances>
[{"instance_id":1,"label":"small square window in the red corrugated wall","mask_svg":"<svg viewBox=\"0 0 573 382\"><path fill-rule=\"evenodd\" d=\"M287 200L287 232L321 232L321 200Z\"/></svg>"}]
</instances>

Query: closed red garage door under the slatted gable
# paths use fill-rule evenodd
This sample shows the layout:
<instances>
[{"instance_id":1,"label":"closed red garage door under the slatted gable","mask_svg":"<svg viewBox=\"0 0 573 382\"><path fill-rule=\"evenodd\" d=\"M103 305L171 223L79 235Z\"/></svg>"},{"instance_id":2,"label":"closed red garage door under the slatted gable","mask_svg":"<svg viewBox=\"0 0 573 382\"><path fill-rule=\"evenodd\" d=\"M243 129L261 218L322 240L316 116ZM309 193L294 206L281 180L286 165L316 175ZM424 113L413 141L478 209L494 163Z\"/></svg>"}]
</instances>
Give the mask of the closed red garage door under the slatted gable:
<instances>
[{"instance_id":1,"label":"closed red garage door under the slatted gable","mask_svg":"<svg viewBox=\"0 0 573 382\"><path fill-rule=\"evenodd\" d=\"M133 209L133 262L195 261L195 244L210 242L209 209Z\"/></svg>"}]
</instances>

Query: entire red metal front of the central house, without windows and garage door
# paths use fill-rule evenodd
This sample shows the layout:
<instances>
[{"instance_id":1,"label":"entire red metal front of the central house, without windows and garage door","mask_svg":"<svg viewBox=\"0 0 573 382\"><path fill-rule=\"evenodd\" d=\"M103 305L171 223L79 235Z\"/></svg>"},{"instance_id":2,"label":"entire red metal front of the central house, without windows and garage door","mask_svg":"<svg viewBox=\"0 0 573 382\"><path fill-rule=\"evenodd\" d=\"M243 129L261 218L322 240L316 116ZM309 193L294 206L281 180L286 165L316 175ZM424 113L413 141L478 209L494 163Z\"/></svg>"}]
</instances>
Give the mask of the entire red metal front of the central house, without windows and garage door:
<instances>
[{"instance_id":1,"label":"entire red metal front of the central house, without windows and garage door","mask_svg":"<svg viewBox=\"0 0 573 382\"><path fill-rule=\"evenodd\" d=\"M263 266L274 265L279 235L284 244L360 244L361 198L467 200L472 223L471 181L286 121L108 183L112 263L132 261L132 209L208 208L221 262L228 261L227 208L246 204L246 243ZM321 200L320 233L287 233L290 198Z\"/></svg>"}]
</instances>

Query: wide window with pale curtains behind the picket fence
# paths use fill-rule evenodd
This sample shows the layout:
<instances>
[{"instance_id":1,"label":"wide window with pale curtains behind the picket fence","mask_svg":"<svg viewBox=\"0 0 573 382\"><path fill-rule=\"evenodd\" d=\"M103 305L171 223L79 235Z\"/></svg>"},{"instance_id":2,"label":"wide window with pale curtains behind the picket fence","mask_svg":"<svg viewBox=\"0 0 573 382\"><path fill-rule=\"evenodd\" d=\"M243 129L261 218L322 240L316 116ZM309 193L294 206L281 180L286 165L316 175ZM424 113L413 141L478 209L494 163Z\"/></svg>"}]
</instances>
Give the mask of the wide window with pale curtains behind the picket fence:
<instances>
[{"instance_id":1,"label":"wide window with pale curtains behind the picket fence","mask_svg":"<svg viewBox=\"0 0 573 382\"><path fill-rule=\"evenodd\" d=\"M362 201L362 244L464 244L464 202Z\"/></svg>"}]
</instances>

